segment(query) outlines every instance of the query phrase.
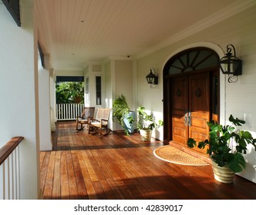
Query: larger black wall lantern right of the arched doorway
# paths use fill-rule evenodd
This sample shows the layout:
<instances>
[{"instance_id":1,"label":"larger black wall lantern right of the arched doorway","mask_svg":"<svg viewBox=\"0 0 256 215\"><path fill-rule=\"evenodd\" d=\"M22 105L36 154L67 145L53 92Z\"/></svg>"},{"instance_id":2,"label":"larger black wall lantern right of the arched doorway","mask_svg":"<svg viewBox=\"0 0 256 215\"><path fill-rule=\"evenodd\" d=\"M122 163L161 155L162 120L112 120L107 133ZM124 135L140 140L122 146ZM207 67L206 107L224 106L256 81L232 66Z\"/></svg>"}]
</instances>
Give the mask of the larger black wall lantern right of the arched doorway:
<instances>
[{"instance_id":1,"label":"larger black wall lantern right of the arched doorway","mask_svg":"<svg viewBox=\"0 0 256 215\"><path fill-rule=\"evenodd\" d=\"M234 51L234 55L231 51ZM242 61L236 57L234 45L227 45L226 56L221 58L219 65L223 74L228 74L227 81L229 83L237 81L237 75L242 74Z\"/></svg>"}]
</instances>

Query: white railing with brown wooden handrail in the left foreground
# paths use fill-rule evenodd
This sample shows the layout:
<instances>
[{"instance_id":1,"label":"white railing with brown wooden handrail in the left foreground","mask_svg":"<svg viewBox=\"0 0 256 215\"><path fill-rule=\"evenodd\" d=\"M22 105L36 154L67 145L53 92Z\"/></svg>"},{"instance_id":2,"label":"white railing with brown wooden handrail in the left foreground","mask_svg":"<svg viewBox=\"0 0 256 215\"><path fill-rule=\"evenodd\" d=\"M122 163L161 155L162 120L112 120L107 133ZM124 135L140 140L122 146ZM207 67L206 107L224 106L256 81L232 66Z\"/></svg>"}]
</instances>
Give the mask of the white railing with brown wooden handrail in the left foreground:
<instances>
[{"instance_id":1,"label":"white railing with brown wooden handrail in the left foreground","mask_svg":"<svg viewBox=\"0 0 256 215\"><path fill-rule=\"evenodd\" d=\"M19 144L23 137L13 137L0 149L0 200L20 199Z\"/></svg>"}]
</instances>

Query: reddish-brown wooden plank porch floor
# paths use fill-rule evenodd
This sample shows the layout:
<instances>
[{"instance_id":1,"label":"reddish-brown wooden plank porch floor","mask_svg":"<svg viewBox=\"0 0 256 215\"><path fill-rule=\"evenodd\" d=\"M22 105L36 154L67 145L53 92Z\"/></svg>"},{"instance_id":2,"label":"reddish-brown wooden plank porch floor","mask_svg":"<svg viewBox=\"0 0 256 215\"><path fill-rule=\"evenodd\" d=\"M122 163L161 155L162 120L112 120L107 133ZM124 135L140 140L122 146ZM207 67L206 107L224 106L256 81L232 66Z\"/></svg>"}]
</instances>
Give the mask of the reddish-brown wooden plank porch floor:
<instances>
[{"instance_id":1,"label":"reddish-brown wooden plank porch floor","mask_svg":"<svg viewBox=\"0 0 256 215\"><path fill-rule=\"evenodd\" d=\"M58 122L53 151L40 152L44 199L256 199L256 184L235 177L234 184L214 180L211 166L170 164L153 155L160 141L140 141L110 133L76 132Z\"/></svg>"}]
</instances>

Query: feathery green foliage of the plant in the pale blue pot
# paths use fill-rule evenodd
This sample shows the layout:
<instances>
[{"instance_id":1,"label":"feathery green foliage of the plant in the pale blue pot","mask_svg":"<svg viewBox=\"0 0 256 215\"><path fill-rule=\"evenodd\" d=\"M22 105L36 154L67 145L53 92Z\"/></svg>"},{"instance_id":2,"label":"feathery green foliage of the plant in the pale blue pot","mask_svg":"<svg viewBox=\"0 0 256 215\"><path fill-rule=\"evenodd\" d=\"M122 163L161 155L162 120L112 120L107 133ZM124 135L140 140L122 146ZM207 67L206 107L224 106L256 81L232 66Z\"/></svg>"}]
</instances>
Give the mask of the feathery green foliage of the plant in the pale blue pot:
<instances>
[{"instance_id":1,"label":"feathery green foliage of the plant in the pale blue pot","mask_svg":"<svg viewBox=\"0 0 256 215\"><path fill-rule=\"evenodd\" d=\"M126 135L129 136L129 131L126 125L124 124L124 117L127 117L130 111L130 107L127 104L126 97L121 94L119 95L116 100L113 102L113 116L116 117L117 121L120 125L124 128L124 132ZM128 121L132 126L133 121L135 119L133 117L128 117Z\"/></svg>"}]
</instances>

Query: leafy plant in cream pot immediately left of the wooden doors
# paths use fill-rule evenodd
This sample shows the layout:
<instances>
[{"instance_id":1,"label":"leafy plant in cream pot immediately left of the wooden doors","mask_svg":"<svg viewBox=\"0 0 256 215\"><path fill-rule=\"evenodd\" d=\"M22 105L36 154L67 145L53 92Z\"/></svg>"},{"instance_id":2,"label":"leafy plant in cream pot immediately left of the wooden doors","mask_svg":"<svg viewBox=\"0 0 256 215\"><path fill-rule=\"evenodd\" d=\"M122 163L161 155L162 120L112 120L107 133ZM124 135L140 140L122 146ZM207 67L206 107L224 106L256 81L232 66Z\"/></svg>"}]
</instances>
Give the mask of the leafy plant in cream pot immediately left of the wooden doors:
<instances>
[{"instance_id":1,"label":"leafy plant in cream pot immediately left of the wooden doors","mask_svg":"<svg viewBox=\"0 0 256 215\"><path fill-rule=\"evenodd\" d=\"M153 128L163 125L163 121L160 120L157 124L153 113L148 114L145 107L142 106L137 108L137 114L136 125L140 131L141 140L150 141Z\"/></svg>"}]
</instances>

